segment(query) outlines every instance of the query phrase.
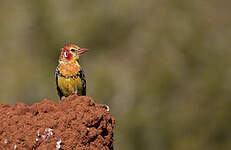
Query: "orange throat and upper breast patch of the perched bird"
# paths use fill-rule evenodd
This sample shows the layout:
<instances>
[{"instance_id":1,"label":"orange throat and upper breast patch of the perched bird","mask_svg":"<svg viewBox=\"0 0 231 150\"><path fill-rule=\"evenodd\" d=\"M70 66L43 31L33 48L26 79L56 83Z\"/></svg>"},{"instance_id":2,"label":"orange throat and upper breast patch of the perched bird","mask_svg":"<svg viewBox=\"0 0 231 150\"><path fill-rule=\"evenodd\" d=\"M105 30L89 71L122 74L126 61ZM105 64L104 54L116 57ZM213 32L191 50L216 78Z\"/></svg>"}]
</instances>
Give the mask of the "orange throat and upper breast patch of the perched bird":
<instances>
[{"instance_id":1,"label":"orange throat and upper breast patch of the perched bird","mask_svg":"<svg viewBox=\"0 0 231 150\"><path fill-rule=\"evenodd\" d=\"M76 75L80 70L80 66L78 62L72 62L72 63L60 63L59 71L64 76L73 76Z\"/></svg>"}]
</instances>

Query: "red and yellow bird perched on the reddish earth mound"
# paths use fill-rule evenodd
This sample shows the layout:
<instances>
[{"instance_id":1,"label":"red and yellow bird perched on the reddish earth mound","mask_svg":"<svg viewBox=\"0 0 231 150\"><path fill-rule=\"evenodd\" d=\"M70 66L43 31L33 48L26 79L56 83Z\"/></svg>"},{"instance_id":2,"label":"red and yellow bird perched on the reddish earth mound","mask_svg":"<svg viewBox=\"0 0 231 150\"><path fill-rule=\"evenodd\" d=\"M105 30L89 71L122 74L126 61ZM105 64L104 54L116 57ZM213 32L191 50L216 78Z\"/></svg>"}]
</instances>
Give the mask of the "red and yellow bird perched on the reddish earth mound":
<instances>
[{"instance_id":1,"label":"red and yellow bird perched on the reddish earth mound","mask_svg":"<svg viewBox=\"0 0 231 150\"><path fill-rule=\"evenodd\" d=\"M87 51L87 49L74 44L66 45L61 49L55 71L56 87L60 100L73 94L86 96L86 77L79 64L79 58Z\"/></svg>"}]
</instances>

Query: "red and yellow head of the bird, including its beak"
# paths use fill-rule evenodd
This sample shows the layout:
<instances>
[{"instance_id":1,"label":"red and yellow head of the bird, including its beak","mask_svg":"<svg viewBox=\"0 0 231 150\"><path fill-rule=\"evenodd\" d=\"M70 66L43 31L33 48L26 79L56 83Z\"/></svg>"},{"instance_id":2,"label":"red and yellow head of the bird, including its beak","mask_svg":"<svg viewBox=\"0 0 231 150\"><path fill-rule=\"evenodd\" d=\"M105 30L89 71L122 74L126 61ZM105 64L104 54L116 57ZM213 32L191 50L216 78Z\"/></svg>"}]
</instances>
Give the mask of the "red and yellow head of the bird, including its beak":
<instances>
[{"instance_id":1,"label":"red and yellow head of the bird, including its beak","mask_svg":"<svg viewBox=\"0 0 231 150\"><path fill-rule=\"evenodd\" d=\"M88 50L85 48L80 48L77 45L66 45L62 48L62 52L60 55L60 60L64 61L76 61L79 59L79 56Z\"/></svg>"}]
</instances>

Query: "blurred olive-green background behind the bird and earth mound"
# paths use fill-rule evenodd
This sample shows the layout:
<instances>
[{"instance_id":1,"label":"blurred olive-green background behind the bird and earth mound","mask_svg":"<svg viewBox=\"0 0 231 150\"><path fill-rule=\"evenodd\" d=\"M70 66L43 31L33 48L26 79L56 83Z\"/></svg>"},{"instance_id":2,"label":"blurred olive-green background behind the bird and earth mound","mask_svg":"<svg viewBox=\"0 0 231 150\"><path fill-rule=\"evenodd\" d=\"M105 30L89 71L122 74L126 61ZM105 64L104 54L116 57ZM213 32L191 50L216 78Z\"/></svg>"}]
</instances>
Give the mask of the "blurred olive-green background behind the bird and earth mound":
<instances>
[{"instance_id":1,"label":"blurred olive-green background behind the bird and earth mound","mask_svg":"<svg viewBox=\"0 0 231 150\"><path fill-rule=\"evenodd\" d=\"M2 0L0 102L58 102L74 43L89 49L87 95L116 118L115 150L229 150L230 14L227 0Z\"/></svg>"}]
</instances>

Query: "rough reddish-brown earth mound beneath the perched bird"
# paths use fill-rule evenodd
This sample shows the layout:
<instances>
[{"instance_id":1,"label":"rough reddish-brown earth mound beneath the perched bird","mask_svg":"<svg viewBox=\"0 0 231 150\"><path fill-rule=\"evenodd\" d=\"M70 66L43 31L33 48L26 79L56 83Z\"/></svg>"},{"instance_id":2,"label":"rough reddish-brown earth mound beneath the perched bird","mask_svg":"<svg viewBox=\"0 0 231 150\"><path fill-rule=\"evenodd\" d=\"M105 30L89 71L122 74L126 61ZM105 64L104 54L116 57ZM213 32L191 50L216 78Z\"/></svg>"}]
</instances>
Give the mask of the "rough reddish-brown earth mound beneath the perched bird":
<instances>
[{"instance_id":1,"label":"rough reddish-brown earth mound beneath the perched bird","mask_svg":"<svg viewBox=\"0 0 231 150\"><path fill-rule=\"evenodd\" d=\"M115 119L87 96L0 105L0 149L112 150Z\"/></svg>"}]
</instances>

